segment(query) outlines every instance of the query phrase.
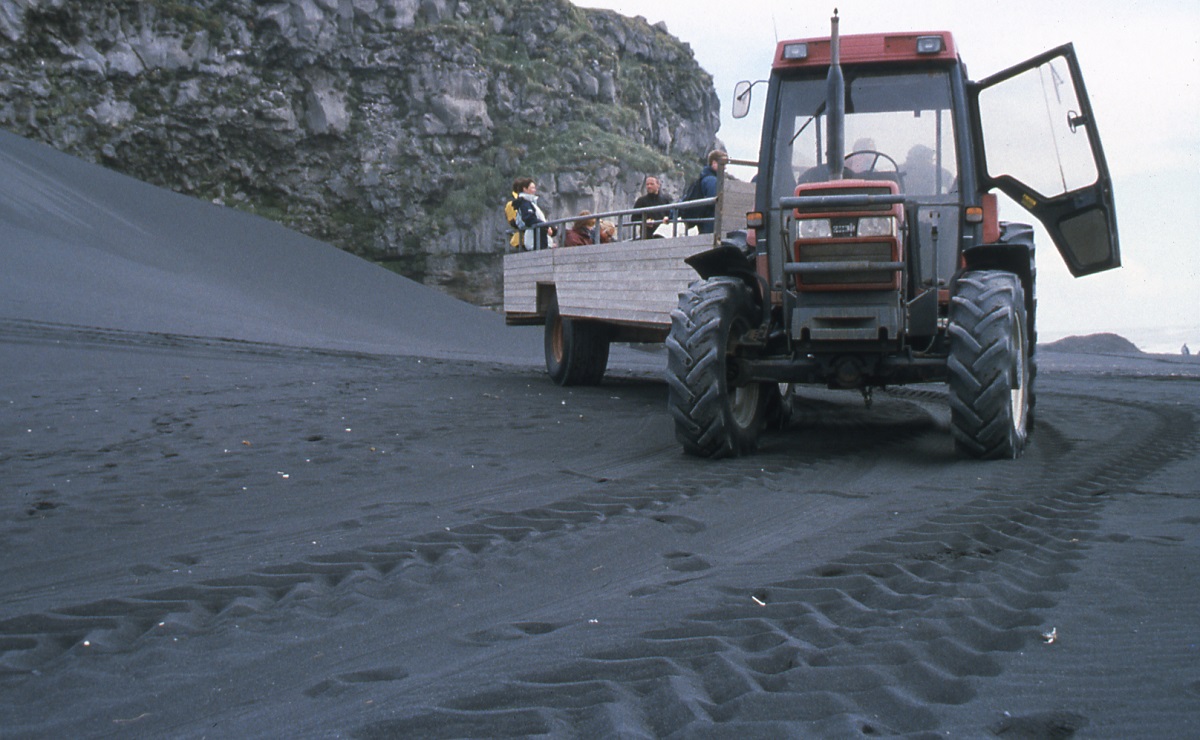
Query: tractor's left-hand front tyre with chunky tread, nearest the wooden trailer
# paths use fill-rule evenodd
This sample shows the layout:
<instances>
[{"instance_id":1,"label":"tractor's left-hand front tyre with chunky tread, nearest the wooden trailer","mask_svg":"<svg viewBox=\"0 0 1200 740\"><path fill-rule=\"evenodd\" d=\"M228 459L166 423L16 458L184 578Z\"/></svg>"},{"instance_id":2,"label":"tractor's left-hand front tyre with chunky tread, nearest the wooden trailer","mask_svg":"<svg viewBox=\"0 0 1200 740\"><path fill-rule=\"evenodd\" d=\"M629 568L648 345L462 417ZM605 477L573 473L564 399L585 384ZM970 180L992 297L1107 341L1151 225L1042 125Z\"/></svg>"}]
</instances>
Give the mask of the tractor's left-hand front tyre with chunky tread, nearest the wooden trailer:
<instances>
[{"instance_id":1,"label":"tractor's left-hand front tyre with chunky tread, nearest the wooden trailer","mask_svg":"<svg viewBox=\"0 0 1200 740\"><path fill-rule=\"evenodd\" d=\"M732 277L692 283L671 312L668 408L676 438L689 455L737 457L758 446L768 389L730 381L731 353L756 317L750 288Z\"/></svg>"}]
</instances>

